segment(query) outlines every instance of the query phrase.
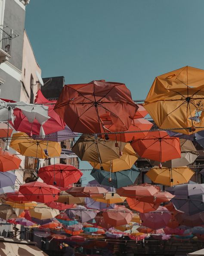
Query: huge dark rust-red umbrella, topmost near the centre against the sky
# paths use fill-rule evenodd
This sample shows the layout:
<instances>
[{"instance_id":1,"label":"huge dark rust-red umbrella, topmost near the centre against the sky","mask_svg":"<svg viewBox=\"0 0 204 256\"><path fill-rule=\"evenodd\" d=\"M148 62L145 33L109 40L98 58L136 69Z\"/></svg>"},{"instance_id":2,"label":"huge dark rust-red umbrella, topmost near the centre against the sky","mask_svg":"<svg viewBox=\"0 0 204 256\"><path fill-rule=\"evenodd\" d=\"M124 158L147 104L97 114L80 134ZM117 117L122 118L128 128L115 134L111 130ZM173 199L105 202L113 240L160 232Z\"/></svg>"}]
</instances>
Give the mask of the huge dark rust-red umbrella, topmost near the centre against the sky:
<instances>
[{"instance_id":1,"label":"huge dark rust-red umbrella, topmost near the centre against the sky","mask_svg":"<svg viewBox=\"0 0 204 256\"><path fill-rule=\"evenodd\" d=\"M105 81L65 85L54 108L72 131L81 133L127 131L137 109L123 83ZM102 121L107 115L110 121Z\"/></svg>"}]
</instances>

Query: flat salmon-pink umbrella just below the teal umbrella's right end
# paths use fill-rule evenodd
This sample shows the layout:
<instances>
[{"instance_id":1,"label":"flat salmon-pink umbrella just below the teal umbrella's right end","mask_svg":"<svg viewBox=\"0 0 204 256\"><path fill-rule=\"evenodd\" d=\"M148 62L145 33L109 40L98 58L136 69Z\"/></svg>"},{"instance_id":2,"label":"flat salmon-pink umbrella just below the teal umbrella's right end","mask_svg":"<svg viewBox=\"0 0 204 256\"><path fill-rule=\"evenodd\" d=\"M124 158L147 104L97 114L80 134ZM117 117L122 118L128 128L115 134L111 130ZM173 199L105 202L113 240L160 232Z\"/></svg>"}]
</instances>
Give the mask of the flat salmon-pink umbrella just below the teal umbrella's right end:
<instances>
[{"instance_id":1,"label":"flat salmon-pink umbrella just below the teal umbrella's right end","mask_svg":"<svg viewBox=\"0 0 204 256\"><path fill-rule=\"evenodd\" d=\"M130 186L130 187L121 187L120 189L116 190L118 195L127 196L129 198L139 198L140 196L145 195L154 195L158 192L158 189L155 186Z\"/></svg>"}]
</instances>

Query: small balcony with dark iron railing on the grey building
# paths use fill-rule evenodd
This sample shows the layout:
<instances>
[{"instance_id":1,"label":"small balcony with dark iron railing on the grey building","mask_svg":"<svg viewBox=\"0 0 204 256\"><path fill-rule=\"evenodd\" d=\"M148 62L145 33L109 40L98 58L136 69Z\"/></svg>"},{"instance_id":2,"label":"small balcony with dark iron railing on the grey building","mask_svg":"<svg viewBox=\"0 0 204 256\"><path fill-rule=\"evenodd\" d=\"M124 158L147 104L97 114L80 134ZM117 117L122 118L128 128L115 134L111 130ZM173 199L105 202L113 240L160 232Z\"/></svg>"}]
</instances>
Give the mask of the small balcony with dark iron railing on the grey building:
<instances>
[{"instance_id":1,"label":"small balcony with dark iron railing on the grey building","mask_svg":"<svg viewBox=\"0 0 204 256\"><path fill-rule=\"evenodd\" d=\"M0 28L0 63L11 57L11 42L12 36Z\"/></svg>"}]
</instances>

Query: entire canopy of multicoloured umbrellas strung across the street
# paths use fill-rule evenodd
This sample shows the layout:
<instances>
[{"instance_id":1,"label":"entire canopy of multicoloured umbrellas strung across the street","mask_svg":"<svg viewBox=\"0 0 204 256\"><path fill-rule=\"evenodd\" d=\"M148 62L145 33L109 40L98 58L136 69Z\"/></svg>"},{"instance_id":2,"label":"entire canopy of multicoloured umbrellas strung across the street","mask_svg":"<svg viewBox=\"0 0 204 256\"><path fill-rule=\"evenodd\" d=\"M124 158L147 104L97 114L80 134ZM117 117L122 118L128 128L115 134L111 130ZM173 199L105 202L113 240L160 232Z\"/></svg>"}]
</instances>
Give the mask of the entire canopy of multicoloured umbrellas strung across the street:
<instances>
[{"instance_id":1,"label":"entire canopy of multicoloured umbrellas strung across the street","mask_svg":"<svg viewBox=\"0 0 204 256\"><path fill-rule=\"evenodd\" d=\"M65 85L58 100L40 90L34 104L0 99L1 220L80 244L204 240L204 184L190 181L204 150L203 106L204 70L189 66L156 77L143 104L105 80ZM22 156L39 179L16 186ZM88 184L77 185L86 170L55 163L73 157L93 166Z\"/></svg>"}]
</instances>

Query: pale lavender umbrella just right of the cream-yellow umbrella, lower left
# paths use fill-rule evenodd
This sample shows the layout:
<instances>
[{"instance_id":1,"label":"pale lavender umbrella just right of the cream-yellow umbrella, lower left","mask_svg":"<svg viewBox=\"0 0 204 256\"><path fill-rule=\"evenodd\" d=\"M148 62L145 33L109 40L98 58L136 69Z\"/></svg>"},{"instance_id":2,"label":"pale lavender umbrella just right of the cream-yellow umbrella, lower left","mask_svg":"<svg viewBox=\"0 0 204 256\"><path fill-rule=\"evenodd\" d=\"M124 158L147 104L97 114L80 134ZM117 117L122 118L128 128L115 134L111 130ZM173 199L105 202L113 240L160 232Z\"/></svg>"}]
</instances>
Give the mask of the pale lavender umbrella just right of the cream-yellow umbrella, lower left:
<instances>
[{"instance_id":1,"label":"pale lavender umbrella just right of the cream-yellow umbrella, lower left","mask_svg":"<svg viewBox=\"0 0 204 256\"><path fill-rule=\"evenodd\" d=\"M87 222L96 217L97 211L94 211L92 209L87 209L84 206L77 205L74 209L68 209L65 211L65 213L68 215L71 219L76 219L79 222Z\"/></svg>"}]
</instances>

